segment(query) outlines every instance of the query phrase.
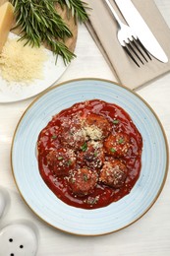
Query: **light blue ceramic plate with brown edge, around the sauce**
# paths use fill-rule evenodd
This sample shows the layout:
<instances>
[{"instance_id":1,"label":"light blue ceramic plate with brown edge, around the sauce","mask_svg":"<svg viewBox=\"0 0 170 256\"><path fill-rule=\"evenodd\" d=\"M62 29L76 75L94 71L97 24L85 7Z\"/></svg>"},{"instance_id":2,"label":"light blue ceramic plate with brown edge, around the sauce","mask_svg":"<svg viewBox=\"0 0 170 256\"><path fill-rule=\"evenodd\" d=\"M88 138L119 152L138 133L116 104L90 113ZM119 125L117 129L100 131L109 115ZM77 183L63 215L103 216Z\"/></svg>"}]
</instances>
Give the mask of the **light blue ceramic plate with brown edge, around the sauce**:
<instances>
[{"instance_id":1,"label":"light blue ceramic plate with brown edge, around the sauce","mask_svg":"<svg viewBox=\"0 0 170 256\"><path fill-rule=\"evenodd\" d=\"M142 134L142 171L131 193L95 210L71 207L58 199L39 175L35 145L40 130L59 111L99 98L123 107ZM13 176L28 207L45 223L77 235L102 235L137 222L160 195L168 172L168 144L163 127L141 96L115 82L86 78L56 85L37 96L21 117L13 137Z\"/></svg>"}]
</instances>

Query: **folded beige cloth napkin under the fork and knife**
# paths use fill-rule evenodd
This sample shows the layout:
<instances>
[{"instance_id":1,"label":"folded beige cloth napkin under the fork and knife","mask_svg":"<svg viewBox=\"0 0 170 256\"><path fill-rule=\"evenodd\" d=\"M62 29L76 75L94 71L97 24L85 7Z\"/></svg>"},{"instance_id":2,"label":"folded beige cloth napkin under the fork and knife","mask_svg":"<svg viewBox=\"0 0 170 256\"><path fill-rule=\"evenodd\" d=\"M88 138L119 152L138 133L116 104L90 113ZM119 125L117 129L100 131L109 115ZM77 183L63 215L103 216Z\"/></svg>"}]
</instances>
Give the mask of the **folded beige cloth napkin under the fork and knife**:
<instances>
[{"instance_id":1,"label":"folded beige cloth napkin under the fork and knife","mask_svg":"<svg viewBox=\"0 0 170 256\"><path fill-rule=\"evenodd\" d=\"M151 62L142 65L141 68L134 64L119 44L117 23L110 15L104 1L85 0L84 2L91 8L88 11L89 22L86 23L86 27L122 85L136 89L170 71L170 29L153 0L132 0L132 2L166 52L169 62L161 63L153 57ZM119 17L124 21L114 1L111 2Z\"/></svg>"}]
</instances>

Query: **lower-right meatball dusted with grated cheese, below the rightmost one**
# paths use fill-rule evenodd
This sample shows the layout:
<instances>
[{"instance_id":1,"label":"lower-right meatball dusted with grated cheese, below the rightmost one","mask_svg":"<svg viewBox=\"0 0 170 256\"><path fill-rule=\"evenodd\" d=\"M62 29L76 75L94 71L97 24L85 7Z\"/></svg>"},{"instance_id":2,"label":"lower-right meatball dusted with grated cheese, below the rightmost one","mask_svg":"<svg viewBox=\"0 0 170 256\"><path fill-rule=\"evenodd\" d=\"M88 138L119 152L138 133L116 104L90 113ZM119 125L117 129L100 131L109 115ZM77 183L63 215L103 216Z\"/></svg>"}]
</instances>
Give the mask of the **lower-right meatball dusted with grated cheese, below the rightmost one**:
<instances>
[{"instance_id":1,"label":"lower-right meatball dusted with grated cheese, below the rightmost one","mask_svg":"<svg viewBox=\"0 0 170 256\"><path fill-rule=\"evenodd\" d=\"M110 187L120 188L126 180L127 171L126 165L120 160L105 161L99 180Z\"/></svg>"}]
</instances>

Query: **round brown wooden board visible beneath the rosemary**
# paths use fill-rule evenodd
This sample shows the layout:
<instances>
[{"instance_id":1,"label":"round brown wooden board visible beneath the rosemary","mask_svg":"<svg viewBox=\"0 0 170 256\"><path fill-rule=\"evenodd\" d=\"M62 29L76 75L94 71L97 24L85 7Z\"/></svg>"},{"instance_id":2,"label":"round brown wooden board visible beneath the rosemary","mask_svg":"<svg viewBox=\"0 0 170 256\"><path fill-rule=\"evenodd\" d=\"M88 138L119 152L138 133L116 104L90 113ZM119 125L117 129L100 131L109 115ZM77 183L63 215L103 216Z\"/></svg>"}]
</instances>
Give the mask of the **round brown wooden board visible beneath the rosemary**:
<instances>
[{"instance_id":1,"label":"round brown wooden board visible beneath the rosemary","mask_svg":"<svg viewBox=\"0 0 170 256\"><path fill-rule=\"evenodd\" d=\"M9 2L9 1L8 0L0 0L0 6L5 2ZM74 51L75 47L76 47L77 36L78 36L78 26L75 24L75 20L73 17L68 19L66 8L64 10L62 10L59 5L56 5L56 10L57 10L58 14L61 15L61 17L63 18L65 23L67 24L70 31L73 33L72 37L67 38L65 40L65 44L68 46L68 48L71 51ZM13 28L14 27L15 27L15 22L14 22ZM20 28L17 30L12 30L11 32L18 34L20 32Z\"/></svg>"}]
</instances>

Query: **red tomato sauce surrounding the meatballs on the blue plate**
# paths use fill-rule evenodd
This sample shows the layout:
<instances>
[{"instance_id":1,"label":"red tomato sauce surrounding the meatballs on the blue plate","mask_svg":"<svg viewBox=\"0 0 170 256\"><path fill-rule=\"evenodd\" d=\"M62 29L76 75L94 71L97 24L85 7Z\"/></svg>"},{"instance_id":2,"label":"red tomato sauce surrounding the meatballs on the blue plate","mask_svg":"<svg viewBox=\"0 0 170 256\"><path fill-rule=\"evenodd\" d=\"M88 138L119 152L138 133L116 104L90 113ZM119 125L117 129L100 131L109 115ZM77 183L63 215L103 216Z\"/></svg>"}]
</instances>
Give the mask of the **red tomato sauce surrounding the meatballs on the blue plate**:
<instances>
[{"instance_id":1,"label":"red tomato sauce surrounding the meatballs on the blue plate","mask_svg":"<svg viewBox=\"0 0 170 256\"><path fill-rule=\"evenodd\" d=\"M74 126L75 129L79 127L79 124L77 124L77 122L73 123L72 119L75 116L79 116L85 120L89 114L104 117L111 128L109 134L116 135L117 133L123 133L130 138L131 145L128 151L120 158L116 157L116 159L121 159L126 165L128 173L121 187L114 188L98 180L90 194L76 195L70 188L68 176L56 175L51 165L48 164L47 156L50 151L60 151L60 149L63 148L63 140L66 139L64 138L65 136L62 137L63 131L71 130L71 126L72 128ZM103 143L107 137L108 135L100 140L102 147L104 147ZM67 140L65 143L67 144ZM76 148L74 148L74 143L73 145L69 145L76 157L73 166L71 166L68 161L68 169L78 167L79 162L77 156L80 151L86 150L85 147L83 147L85 143L83 144L84 145L78 145ZM106 154L104 158L106 160L110 157ZM111 158L114 159L114 157ZM58 160L60 159L62 159L62 157L58 158ZM128 195L139 179L142 168L142 135L130 115L119 105L100 99L86 100L57 113L52 117L46 127L42 129L37 140L37 160L42 179L60 200L70 206L83 209L106 207ZM100 168L102 168L102 166ZM99 173L100 168L97 169L97 173Z\"/></svg>"}]
</instances>

